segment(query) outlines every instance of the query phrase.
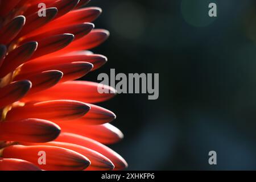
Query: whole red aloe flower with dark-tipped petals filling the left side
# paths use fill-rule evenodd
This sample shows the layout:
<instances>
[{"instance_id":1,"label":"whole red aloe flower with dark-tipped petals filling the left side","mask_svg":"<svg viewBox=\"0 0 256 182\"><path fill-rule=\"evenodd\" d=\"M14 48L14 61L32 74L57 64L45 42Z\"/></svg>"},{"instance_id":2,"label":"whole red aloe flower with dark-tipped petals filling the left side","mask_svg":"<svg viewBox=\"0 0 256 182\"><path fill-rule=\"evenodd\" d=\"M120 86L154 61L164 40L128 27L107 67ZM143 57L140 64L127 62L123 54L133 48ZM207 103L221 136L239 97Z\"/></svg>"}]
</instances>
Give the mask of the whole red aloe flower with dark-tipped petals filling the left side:
<instances>
[{"instance_id":1,"label":"whole red aloe flower with dark-tipped petals filling the left side","mask_svg":"<svg viewBox=\"0 0 256 182\"><path fill-rule=\"evenodd\" d=\"M109 100L89 81L73 81L100 68L105 56L88 49L109 32L94 29L98 7L89 0L0 0L0 170L120 170L126 161L104 144L123 134ZM40 152L45 162L39 163ZM43 153L42 153L43 154Z\"/></svg>"}]
</instances>

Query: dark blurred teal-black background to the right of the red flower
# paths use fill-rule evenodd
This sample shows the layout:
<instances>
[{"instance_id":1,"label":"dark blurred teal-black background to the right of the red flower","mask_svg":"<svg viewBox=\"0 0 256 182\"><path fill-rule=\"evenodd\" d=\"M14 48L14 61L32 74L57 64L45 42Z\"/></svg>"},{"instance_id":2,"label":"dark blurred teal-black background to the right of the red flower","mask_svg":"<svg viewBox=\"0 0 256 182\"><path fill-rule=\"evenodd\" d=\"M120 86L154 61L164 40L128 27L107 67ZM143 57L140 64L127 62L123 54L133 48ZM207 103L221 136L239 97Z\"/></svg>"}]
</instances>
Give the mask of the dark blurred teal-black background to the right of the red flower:
<instances>
[{"instance_id":1,"label":"dark blurred teal-black background to the right of the red flower","mask_svg":"<svg viewBox=\"0 0 256 182\"><path fill-rule=\"evenodd\" d=\"M217 3L217 18L208 5ZM111 35L99 73L159 73L159 99L119 94L101 106L125 134L110 146L130 170L256 169L256 1L92 0ZM217 165L208 152L217 152Z\"/></svg>"}]
</instances>

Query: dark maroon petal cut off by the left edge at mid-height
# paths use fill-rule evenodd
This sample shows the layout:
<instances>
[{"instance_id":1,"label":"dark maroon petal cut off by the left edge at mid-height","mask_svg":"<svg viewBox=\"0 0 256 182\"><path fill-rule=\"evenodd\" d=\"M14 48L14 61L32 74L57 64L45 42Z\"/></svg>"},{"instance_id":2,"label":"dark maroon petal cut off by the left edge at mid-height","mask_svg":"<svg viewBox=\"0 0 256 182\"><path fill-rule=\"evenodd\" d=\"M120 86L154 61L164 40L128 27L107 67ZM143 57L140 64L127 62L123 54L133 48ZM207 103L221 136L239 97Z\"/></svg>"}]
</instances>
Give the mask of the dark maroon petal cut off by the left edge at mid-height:
<instances>
[{"instance_id":1,"label":"dark maroon petal cut off by the left edge at mid-height","mask_svg":"<svg viewBox=\"0 0 256 182\"><path fill-rule=\"evenodd\" d=\"M31 85L30 81L22 80L0 88L0 108L20 100L30 90Z\"/></svg>"}]
</instances>

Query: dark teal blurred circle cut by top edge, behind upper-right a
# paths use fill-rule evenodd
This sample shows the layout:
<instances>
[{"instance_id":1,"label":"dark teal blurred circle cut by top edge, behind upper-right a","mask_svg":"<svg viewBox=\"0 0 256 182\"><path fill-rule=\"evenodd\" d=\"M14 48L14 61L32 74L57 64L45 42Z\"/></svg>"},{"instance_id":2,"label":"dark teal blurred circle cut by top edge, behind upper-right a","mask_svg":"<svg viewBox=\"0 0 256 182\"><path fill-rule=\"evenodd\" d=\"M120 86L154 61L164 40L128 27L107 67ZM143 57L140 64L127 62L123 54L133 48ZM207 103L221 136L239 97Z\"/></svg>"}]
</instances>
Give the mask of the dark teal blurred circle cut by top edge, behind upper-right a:
<instances>
[{"instance_id":1,"label":"dark teal blurred circle cut by top edge, behind upper-right a","mask_svg":"<svg viewBox=\"0 0 256 182\"><path fill-rule=\"evenodd\" d=\"M216 20L216 17L209 17L209 4L217 4L218 15L218 3L216 0L182 0L181 2L181 14L188 24L195 27L205 27Z\"/></svg>"}]
</instances>

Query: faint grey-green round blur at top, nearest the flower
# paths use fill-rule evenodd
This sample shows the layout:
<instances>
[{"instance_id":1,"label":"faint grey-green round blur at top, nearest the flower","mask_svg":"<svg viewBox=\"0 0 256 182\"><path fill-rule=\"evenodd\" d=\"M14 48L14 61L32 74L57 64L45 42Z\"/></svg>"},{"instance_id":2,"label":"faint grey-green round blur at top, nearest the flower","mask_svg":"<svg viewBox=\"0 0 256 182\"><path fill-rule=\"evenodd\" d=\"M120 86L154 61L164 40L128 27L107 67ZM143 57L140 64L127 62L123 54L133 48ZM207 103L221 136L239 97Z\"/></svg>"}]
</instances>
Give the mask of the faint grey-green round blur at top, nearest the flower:
<instances>
[{"instance_id":1,"label":"faint grey-green round blur at top, nearest the flower","mask_svg":"<svg viewBox=\"0 0 256 182\"><path fill-rule=\"evenodd\" d=\"M131 2L122 2L110 11L110 26L119 35L136 39L143 34L146 15L142 7Z\"/></svg>"}]
</instances>

